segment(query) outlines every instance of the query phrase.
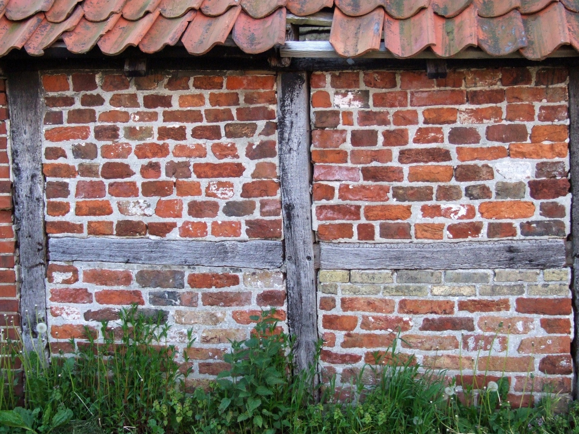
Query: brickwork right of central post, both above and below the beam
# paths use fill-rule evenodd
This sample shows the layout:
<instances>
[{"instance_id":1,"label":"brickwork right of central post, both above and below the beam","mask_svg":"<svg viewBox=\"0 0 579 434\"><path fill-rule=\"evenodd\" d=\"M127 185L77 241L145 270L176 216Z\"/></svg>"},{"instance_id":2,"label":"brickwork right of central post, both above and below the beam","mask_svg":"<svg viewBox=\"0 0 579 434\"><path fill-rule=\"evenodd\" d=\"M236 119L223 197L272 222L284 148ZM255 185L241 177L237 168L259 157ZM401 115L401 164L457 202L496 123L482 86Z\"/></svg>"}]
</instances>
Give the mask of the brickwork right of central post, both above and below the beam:
<instances>
[{"instance_id":1,"label":"brickwork right of central post, both above and below the beam","mask_svg":"<svg viewBox=\"0 0 579 434\"><path fill-rule=\"evenodd\" d=\"M566 86L564 68L456 70L439 80L314 73L318 240L566 237ZM400 331L401 351L459 384L460 367L467 381L504 367L516 404L527 372L527 392L546 382L571 390L568 269L321 270L318 280L323 370L342 383Z\"/></svg>"}]
</instances>

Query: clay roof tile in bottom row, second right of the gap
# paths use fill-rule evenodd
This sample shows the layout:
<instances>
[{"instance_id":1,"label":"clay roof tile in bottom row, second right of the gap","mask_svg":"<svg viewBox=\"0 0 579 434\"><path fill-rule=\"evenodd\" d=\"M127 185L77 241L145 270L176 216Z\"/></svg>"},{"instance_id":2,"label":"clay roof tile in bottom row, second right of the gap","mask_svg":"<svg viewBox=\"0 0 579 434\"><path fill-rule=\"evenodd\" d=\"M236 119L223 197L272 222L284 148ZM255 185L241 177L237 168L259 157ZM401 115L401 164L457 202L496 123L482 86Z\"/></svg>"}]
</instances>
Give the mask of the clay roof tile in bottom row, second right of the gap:
<instances>
[{"instance_id":1,"label":"clay roof tile in bottom row, second right of the gap","mask_svg":"<svg viewBox=\"0 0 579 434\"><path fill-rule=\"evenodd\" d=\"M423 9L406 20L384 15L384 45L395 57L412 57L435 43L432 9Z\"/></svg>"}]
</instances>

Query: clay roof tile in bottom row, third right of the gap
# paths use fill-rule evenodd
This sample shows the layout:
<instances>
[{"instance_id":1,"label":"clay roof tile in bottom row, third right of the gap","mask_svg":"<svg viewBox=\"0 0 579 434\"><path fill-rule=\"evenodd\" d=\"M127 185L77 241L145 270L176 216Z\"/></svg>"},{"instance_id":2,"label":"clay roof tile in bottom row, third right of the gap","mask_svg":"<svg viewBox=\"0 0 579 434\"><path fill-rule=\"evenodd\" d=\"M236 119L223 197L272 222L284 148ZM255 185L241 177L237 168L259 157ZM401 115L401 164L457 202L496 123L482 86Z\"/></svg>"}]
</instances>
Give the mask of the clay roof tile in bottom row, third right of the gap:
<instances>
[{"instance_id":1,"label":"clay roof tile in bottom row, third right of the gap","mask_svg":"<svg viewBox=\"0 0 579 434\"><path fill-rule=\"evenodd\" d=\"M436 44L431 48L437 56L455 56L469 46L477 46L477 10L474 5L453 18L434 14Z\"/></svg>"}]
</instances>

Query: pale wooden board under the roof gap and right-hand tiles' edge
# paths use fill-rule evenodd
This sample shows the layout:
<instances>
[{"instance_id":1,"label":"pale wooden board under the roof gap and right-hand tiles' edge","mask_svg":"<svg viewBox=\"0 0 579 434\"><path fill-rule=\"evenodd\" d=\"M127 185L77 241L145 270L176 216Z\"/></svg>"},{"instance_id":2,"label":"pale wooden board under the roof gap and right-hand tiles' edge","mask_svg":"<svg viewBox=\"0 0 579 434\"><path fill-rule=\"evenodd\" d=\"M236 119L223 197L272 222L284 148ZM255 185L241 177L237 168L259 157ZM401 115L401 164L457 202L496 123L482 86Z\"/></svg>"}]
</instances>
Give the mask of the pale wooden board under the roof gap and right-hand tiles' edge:
<instances>
[{"instance_id":1,"label":"pale wooden board under the roof gap and right-hand tiles' edge","mask_svg":"<svg viewBox=\"0 0 579 434\"><path fill-rule=\"evenodd\" d=\"M314 58L336 58L340 57L334 47L332 47L329 41L285 41L285 45L280 47L281 57L314 57ZM560 48L555 50L548 57L578 57L579 52L569 47ZM378 51L368 52L358 58L386 58L394 59L397 58L384 46L384 42L380 43L380 49ZM437 59L439 58L431 50L424 50L412 56L413 59ZM457 53L452 57L453 59L487 59L487 58L525 58L521 53L514 52L507 54L506 56L492 56L483 52L483 50L470 47L466 50Z\"/></svg>"}]
</instances>

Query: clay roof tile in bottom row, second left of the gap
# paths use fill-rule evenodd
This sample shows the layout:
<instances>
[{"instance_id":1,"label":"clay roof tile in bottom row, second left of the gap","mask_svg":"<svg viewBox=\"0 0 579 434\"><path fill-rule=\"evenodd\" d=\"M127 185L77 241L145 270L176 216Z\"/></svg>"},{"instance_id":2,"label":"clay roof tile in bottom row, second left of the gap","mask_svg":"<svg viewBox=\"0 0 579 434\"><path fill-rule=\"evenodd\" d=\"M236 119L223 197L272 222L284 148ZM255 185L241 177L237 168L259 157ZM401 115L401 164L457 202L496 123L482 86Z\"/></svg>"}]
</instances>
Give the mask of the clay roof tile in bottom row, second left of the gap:
<instances>
[{"instance_id":1,"label":"clay roof tile in bottom row, second left of the gap","mask_svg":"<svg viewBox=\"0 0 579 434\"><path fill-rule=\"evenodd\" d=\"M224 43L240 12L241 6L235 6L218 17L197 13L181 38L187 52L198 56Z\"/></svg>"}]
</instances>

